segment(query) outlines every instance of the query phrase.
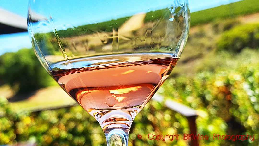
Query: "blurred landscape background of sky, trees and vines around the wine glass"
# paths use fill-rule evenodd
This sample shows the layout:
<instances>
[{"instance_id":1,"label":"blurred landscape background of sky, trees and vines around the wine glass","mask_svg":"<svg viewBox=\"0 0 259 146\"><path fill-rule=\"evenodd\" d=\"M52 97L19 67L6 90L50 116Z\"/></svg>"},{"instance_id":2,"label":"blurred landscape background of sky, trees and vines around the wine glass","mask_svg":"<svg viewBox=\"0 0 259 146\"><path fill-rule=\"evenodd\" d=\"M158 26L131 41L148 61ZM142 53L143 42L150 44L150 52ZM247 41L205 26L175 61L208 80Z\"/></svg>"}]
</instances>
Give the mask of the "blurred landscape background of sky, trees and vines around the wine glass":
<instances>
[{"instance_id":1,"label":"blurred landscape background of sky, trees and vines around the wine glass","mask_svg":"<svg viewBox=\"0 0 259 146\"><path fill-rule=\"evenodd\" d=\"M259 145L259 2L190 0L188 43L157 94L195 109L199 145ZM26 19L27 1L1 1ZM22 20L22 19L21 19ZM22 23L21 23L22 25ZM3 28L0 28L3 29ZM0 145L106 145L96 120L55 83L31 49L27 32L0 35ZM130 146L191 145L184 115L150 100L136 116ZM179 134L177 141L148 140L149 133ZM255 140L213 140L255 135ZM137 135L142 138L138 139Z\"/></svg>"}]
</instances>

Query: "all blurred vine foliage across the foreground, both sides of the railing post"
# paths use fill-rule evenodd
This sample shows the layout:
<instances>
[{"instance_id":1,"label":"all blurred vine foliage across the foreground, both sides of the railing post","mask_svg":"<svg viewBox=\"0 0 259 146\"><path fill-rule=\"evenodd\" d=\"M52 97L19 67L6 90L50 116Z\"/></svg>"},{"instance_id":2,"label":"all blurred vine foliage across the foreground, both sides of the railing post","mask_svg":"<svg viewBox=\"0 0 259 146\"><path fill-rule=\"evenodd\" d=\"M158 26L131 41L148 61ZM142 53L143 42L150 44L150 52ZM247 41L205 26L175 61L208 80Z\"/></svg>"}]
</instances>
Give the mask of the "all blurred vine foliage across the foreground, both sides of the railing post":
<instances>
[{"instance_id":1,"label":"all blurred vine foliage across the foreground, both sides of the railing post","mask_svg":"<svg viewBox=\"0 0 259 146\"><path fill-rule=\"evenodd\" d=\"M249 54L251 60L236 61L239 55ZM224 56L224 53L222 55ZM259 116L259 61L255 59L257 55L258 52L255 50L246 49L233 58L236 61L234 69L222 67L222 63L222 66L214 67L212 71L200 70L195 77L170 78L159 90L159 93L167 98L198 111L198 133L210 136L209 140L200 140L200 145L258 144L259 119L256 117ZM5 99L0 100L0 105L0 113L4 115L0 118L0 144L28 140L38 145L106 143L99 124L80 106L39 113L17 113L12 111ZM189 133L185 117L156 101L150 101L136 116L131 128L129 145L186 145L189 142L182 140L182 137L172 142L148 140L149 133L175 133L180 136ZM213 140L213 133L255 134L255 141ZM141 140L136 138L138 134L142 135Z\"/></svg>"}]
</instances>

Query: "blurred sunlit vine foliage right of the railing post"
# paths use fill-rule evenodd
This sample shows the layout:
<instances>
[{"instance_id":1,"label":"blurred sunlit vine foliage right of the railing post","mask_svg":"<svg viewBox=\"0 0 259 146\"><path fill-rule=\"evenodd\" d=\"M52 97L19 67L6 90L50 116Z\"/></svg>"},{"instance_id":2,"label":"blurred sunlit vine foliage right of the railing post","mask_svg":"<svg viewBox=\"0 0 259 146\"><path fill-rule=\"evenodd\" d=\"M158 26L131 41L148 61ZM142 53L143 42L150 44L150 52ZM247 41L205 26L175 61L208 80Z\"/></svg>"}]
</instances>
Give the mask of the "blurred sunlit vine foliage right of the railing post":
<instances>
[{"instance_id":1,"label":"blurred sunlit vine foliage right of the railing post","mask_svg":"<svg viewBox=\"0 0 259 146\"><path fill-rule=\"evenodd\" d=\"M214 73L200 72L194 78L171 78L160 92L199 110L199 118L208 119L207 123L197 119L200 133L215 133L218 128L220 131L227 128L227 134L253 134L257 138L242 143L220 141L221 145L258 145L258 66L258 61L244 61L236 69L218 68ZM214 125L216 121L219 122L217 126ZM202 142L207 145L213 141Z\"/></svg>"}]
</instances>

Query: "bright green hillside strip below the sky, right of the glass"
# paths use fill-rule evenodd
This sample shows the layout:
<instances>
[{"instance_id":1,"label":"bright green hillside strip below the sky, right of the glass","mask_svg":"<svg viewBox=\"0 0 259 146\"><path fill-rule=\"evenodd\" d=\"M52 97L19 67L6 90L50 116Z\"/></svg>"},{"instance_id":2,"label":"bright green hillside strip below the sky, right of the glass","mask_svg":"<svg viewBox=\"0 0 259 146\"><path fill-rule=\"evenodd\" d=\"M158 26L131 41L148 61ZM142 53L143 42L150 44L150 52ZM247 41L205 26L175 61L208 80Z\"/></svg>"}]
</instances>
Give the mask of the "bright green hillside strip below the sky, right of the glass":
<instances>
[{"instance_id":1,"label":"bright green hillside strip below the sky, right of the glass","mask_svg":"<svg viewBox=\"0 0 259 146\"><path fill-rule=\"evenodd\" d=\"M191 26L208 23L214 19L246 15L259 11L258 0L244 0L191 13Z\"/></svg>"}]
</instances>

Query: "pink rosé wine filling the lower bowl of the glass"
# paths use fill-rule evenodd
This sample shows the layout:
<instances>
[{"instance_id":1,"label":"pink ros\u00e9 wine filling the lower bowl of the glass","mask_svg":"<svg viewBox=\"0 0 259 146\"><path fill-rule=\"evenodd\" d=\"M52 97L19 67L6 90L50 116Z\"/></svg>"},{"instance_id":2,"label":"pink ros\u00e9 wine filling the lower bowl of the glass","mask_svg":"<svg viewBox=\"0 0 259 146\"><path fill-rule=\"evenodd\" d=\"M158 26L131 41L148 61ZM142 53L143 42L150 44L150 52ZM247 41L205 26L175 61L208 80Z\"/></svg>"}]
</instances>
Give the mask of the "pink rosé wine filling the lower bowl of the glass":
<instances>
[{"instance_id":1,"label":"pink ros\u00e9 wine filling the lower bowl of the glass","mask_svg":"<svg viewBox=\"0 0 259 146\"><path fill-rule=\"evenodd\" d=\"M174 68L178 58L173 56L138 53L79 58L54 64L56 71L49 73L109 133L118 127L129 130L135 115Z\"/></svg>"}]
</instances>

